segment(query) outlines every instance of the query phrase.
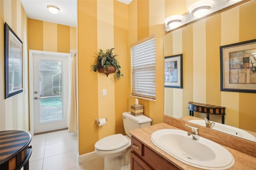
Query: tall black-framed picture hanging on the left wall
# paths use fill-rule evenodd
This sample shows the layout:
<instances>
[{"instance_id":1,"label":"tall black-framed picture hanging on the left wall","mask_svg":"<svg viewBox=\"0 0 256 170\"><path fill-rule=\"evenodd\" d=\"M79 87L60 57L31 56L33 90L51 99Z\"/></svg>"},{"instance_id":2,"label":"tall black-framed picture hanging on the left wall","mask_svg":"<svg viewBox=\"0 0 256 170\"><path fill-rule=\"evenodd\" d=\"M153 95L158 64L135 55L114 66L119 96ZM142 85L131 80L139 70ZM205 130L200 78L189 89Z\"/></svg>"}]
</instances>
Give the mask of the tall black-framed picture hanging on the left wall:
<instances>
[{"instance_id":1,"label":"tall black-framed picture hanging on the left wall","mask_svg":"<svg viewBox=\"0 0 256 170\"><path fill-rule=\"evenodd\" d=\"M21 93L23 43L14 31L4 24L4 81L5 99Z\"/></svg>"}]
</instances>

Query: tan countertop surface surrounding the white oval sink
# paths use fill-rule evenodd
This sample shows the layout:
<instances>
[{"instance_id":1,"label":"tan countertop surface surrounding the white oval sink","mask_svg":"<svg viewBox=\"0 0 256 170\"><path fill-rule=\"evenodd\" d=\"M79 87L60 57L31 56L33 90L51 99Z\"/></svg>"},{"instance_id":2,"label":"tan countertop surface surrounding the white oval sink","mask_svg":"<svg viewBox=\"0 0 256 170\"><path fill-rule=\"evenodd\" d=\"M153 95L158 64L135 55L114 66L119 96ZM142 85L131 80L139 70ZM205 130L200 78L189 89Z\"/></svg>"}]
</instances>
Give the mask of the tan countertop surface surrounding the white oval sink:
<instances>
[{"instance_id":1,"label":"tan countertop surface surrounding the white oval sink","mask_svg":"<svg viewBox=\"0 0 256 170\"><path fill-rule=\"evenodd\" d=\"M151 142L151 134L156 130L160 130L160 129L164 129L164 128L179 129L179 128L173 127L171 125L168 125L166 123L159 123L156 125L151 125L149 127L143 127L143 128L131 130L130 134L132 134L132 136L134 136L135 138L140 140L143 144L148 146L154 152L156 152L157 154L162 156L164 159L166 159L168 162L170 162L171 164L174 164L176 167L180 168L181 170L198 170L198 168L194 168L192 166L189 166L187 164L184 164L184 163L176 160L172 156L170 156L167 153L165 153L164 151L160 150L160 148L158 148ZM223 146L223 147L226 148L233 155L233 157L235 159L235 164L232 168L230 168L231 170L255 169L255 162L256 162L255 157L244 154L244 153L234 150L232 148L228 148L226 146Z\"/></svg>"}]
</instances>

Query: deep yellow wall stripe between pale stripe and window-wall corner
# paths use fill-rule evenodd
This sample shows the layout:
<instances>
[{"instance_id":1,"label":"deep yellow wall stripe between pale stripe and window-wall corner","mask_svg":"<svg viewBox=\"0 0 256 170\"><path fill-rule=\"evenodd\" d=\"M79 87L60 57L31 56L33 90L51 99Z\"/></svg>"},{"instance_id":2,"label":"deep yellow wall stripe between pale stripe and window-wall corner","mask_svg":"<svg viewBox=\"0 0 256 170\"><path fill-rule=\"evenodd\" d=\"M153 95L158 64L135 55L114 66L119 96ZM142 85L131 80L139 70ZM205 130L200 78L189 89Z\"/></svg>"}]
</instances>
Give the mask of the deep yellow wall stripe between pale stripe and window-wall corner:
<instances>
[{"instance_id":1,"label":"deep yellow wall stripe between pale stripe and window-wall corner","mask_svg":"<svg viewBox=\"0 0 256 170\"><path fill-rule=\"evenodd\" d=\"M127 98L130 95L128 88L128 6L124 3L114 1L114 52L118 54L116 57L121 65L122 73L120 81L115 80L114 88L114 105L115 105L115 133L124 133L123 116L121 113L127 111ZM122 80L122 81L121 81ZM123 95L120 95L123 94Z\"/></svg>"}]
</instances>

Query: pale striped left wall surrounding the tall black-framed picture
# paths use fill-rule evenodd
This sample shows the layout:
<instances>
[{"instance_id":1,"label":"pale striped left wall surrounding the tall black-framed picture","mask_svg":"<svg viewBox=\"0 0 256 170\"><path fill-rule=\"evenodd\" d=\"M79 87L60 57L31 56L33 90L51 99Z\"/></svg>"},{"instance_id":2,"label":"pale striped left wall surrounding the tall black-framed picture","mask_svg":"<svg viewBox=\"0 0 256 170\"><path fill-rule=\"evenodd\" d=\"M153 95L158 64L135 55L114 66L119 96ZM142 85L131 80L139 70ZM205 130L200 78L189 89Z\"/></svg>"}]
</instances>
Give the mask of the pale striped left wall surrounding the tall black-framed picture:
<instances>
[{"instance_id":1,"label":"pale striped left wall surrounding the tall black-framed picture","mask_svg":"<svg viewBox=\"0 0 256 170\"><path fill-rule=\"evenodd\" d=\"M4 99L4 23L23 42L23 92ZM29 130L27 16L20 0L0 1L0 130Z\"/></svg>"}]
</instances>

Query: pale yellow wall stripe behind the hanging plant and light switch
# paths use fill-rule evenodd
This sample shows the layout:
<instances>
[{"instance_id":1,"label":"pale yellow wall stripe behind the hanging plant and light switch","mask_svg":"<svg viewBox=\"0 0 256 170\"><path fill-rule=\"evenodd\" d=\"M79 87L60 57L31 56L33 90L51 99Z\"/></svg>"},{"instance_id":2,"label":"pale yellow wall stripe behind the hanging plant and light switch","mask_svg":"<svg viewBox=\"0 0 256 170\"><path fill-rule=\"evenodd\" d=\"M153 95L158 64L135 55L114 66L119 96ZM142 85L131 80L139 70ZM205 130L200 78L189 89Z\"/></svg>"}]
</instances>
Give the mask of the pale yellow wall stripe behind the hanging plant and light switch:
<instances>
[{"instance_id":1,"label":"pale yellow wall stripe behind the hanging plant and light switch","mask_svg":"<svg viewBox=\"0 0 256 170\"><path fill-rule=\"evenodd\" d=\"M114 47L114 1L97 2L97 34L98 49ZM104 21L104 22L102 22ZM116 51L114 50L114 53ZM99 127L99 138L115 134L115 100L114 100L114 74L98 73L98 118L107 117L108 122L104 127ZM107 96L102 96L102 90L107 90Z\"/></svg>"}]
</instances>

